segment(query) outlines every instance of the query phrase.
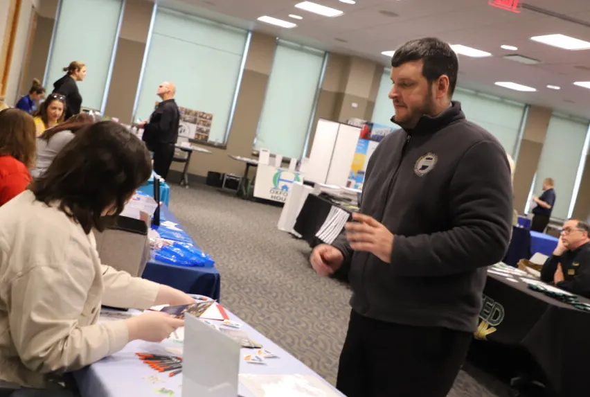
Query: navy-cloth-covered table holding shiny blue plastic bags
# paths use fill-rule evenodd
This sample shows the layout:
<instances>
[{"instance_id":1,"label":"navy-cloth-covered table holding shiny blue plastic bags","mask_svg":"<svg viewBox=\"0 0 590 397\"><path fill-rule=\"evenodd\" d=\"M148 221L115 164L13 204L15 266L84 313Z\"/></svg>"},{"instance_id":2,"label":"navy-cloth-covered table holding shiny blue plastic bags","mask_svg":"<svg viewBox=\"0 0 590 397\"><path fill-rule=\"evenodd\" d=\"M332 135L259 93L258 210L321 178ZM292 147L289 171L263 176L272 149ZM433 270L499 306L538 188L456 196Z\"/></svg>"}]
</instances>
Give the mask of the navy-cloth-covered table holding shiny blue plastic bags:
<instances>
[{"instance_id":1,"label":"navy-cloth-covered table holding shiny blue plastic bags","mask_svg":"<svg viewBox=\"0 0 590 397\"><path fill-rule=\"evenodd\" d=\"M160 207L160 222L169 220L177 223L179 229L182 228L175 215L173 215L166 204ZM188 238L188 233L184 231ZM198 247L198 245L190 238L190 241ZM168 263L157 261L154 258L152 251L152 258L145 265L142 277L147 280L154 281L160 284L170 285L170 287L187 292L188 294L202 294L220 300L221 294L221 276L215 266L213 267L185 267L175 266Z\"/></svg>"}]
</instances>

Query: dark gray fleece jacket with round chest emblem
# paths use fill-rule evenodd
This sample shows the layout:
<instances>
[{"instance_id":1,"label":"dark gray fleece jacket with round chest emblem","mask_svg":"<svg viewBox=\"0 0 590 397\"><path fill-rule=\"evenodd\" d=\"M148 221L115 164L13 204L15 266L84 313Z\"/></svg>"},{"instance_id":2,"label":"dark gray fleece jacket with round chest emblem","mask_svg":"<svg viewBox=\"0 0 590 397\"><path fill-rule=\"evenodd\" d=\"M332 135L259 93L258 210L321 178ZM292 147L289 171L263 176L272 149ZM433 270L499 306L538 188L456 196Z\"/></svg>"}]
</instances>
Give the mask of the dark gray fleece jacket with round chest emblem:
<instances>
[{"instance_id":1,"label":"dark gray fleece jacket with round chest emblem","mask_svg":"<svg viewBox=\"0 0 590 397\"><path fill-rule=\"evenodd\" d=\"M501 261L512 230L506 152L465 120L461 103L412 131L387 136L370 158L361 213L394 235L391 263L352 252L341 234L341 272L352 309L377 320L473 332L485 267Z\"/></svg>"}]
</instances>

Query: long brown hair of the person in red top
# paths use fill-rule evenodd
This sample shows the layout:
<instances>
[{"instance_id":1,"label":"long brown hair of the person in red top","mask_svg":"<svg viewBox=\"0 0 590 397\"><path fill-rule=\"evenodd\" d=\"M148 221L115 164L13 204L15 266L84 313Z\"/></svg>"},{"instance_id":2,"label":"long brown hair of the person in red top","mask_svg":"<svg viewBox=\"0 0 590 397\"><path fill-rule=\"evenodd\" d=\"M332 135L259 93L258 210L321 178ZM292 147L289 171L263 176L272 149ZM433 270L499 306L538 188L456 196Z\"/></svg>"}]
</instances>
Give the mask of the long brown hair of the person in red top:
<instances>
[{"instance_id":1,"label":"long brown hair of the person in red top","mask_svg":"<svg viewBox=\"0 0 590 397\"><path fill-rule=\"evenodd\" d=\"M37 130L30 114L20 109L0 111L0 155L10 155L26 168L35 166Z\"/></svg>"}]
</instances>

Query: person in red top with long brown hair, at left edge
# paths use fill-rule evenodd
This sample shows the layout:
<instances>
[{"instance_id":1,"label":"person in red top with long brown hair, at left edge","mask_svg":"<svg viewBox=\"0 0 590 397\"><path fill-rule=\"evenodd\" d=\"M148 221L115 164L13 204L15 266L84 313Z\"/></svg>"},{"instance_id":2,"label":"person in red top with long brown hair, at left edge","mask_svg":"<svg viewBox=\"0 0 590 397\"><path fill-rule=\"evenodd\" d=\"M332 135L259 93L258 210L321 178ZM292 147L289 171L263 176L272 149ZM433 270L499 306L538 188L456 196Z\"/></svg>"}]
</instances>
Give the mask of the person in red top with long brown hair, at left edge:
<instances>
[{"instance_id":1,"label":"person in red top with long brown hair, at left edge","mask_svg":"<svg viewBox=\"0 0 590 397\"><path fill-rule=\"evenodd\" d=\"M19 109L0 111L0 206L22 193L32 182L35 166L35 122Z\"/></svg>"}]
</instances>

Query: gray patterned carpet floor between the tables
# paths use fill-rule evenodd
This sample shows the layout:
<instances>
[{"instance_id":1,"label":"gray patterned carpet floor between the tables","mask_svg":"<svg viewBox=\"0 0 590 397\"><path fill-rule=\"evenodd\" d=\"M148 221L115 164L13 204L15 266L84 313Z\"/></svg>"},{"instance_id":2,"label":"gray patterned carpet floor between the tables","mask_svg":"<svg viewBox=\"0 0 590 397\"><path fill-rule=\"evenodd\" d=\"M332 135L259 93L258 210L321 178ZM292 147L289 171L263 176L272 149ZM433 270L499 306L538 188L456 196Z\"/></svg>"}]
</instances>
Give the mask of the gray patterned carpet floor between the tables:
<instances>
[{"instance_id":1,"label":"gray patterned carpet floor between the tables","mask_svg":"<svg viewBox=\"0 0 590 397\"><path fill-rule=\"evenodd\" d=\"M334 384L350 306L347 285L315 274L310 247L277 229L280 207L170 182L170 209L221 273L224 306ZM468 364L449 397L508 397Z\"/></svg>"}]
</instances>

